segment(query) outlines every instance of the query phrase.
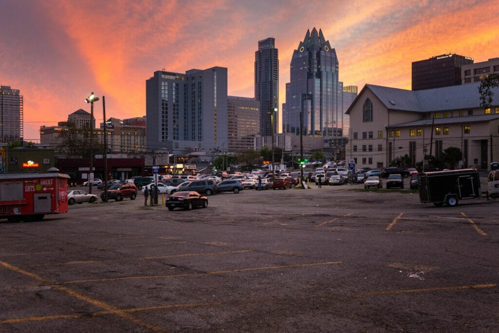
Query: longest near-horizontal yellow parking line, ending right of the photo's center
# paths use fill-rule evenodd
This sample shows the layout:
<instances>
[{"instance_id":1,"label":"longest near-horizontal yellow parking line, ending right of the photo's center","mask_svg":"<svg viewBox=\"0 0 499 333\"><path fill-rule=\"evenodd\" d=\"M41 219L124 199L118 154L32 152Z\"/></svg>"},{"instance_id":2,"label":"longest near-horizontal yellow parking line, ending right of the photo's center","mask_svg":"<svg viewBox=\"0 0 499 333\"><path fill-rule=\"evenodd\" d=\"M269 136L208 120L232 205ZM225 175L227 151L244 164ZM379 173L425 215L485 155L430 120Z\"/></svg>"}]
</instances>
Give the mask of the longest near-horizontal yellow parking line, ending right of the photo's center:
<instances>
[{"instance_id":1,"label":"longest near-horizontal yellow parking line, ending right of the photo's center","mask_svg":"<svg viewBox=\"0 0 499 333\"><path fill-rule=\"evenodd\" d=\"M339 264L342 264L342 262L341 261L332 261L332 262L311 263L311 264L251 267L251 268L242 268L242 269L238 269L238 270L214 271L214 272L207 272L207 273L186 273L186 274L170 274L170 275L146 275L146 276L108 278L108 279L73 280L73 281L59 282L59 283L56 283L56 285L70 285L70 284L86 283L86 282L106 282L106 281L120 281L120 280L167 279L167 278L197 277L197 276L220 275L220 274L229 274L229 273L263 271L263 270L276 270L276 269L298 268L298 267L312 267L312 266L323 266L323 265L339 265Z\"/></svg>"}]
</instances>

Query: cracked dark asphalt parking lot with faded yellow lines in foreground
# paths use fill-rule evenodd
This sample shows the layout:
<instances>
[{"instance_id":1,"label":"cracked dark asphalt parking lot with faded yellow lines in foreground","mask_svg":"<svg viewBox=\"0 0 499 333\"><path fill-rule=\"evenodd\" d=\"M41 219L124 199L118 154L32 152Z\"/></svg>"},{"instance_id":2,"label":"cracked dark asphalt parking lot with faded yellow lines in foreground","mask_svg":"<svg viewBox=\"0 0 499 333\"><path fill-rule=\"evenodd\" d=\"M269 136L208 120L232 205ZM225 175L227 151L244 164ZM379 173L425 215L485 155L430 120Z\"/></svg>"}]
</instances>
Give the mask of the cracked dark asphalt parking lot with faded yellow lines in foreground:
<instances>
[{"instance_id":1,"label":"cracked dark asphalt parking lot with faded yellow lines in foreground","mask_svg":"<svg viewBox=\"0 0 499 333\"><path fill-rule=\"evenodd\" d=\"M499 331L499 200L348 185L143 204L1 220L0 331Z\"/></svg>"}]
</instances>

